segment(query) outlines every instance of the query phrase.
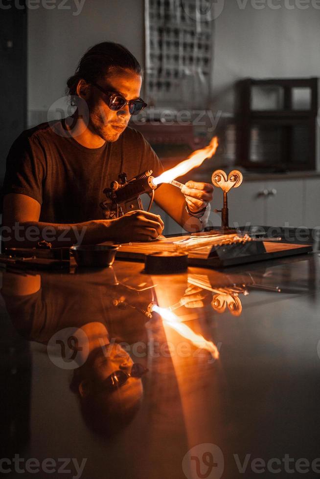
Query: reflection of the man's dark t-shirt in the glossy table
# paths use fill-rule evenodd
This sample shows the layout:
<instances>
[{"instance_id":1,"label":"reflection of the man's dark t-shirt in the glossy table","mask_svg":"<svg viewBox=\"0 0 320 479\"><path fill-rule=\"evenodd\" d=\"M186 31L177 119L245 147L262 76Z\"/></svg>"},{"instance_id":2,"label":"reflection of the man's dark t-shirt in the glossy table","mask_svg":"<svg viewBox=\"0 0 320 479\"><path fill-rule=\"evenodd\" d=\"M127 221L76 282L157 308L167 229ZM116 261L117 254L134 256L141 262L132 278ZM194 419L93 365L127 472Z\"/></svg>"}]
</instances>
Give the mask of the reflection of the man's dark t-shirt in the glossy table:
<instances>
[{"instance_id":1,"label":"reflection of the man's dark t-shirt in the glossy table","mask_svg":"<svg viewBox=\"0 0 320 479\"><path fill-rule=\"evenodd\" d=\"M41 288L26 296L15 294L10 283L11 273L4 273L1 295L13 325L30 341L47 344L57 331L68 327L81 327L87 323L103 323L116 342L130 344L144 341L145 317L139 312L153 299L153 289L139 292L126 287L128 273L105 268L94 274L60 275L41 274ZM135 284L148 282L143 274L135 275ZM118 283L119 282L119 283ZM125 295L132 308L118 308L114 298Z\"/></svg>"}]
</instances>

